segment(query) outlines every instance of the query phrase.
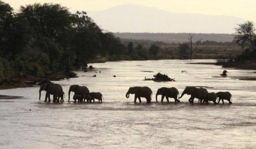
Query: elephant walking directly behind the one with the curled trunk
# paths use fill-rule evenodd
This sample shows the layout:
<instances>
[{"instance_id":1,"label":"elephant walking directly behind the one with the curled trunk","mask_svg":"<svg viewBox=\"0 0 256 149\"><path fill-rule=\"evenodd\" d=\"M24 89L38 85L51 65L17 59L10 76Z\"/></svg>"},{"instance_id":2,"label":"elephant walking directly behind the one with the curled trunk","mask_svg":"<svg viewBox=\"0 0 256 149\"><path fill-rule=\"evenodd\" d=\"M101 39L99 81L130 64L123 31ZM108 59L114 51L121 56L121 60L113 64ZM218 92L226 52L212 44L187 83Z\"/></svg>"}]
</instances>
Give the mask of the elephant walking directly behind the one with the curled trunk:
<instances>
[{"instance_id":1,"label":"elephant walking directly behind the one with the curled trunk","mask_svg":"<svg viewBox=\"0 0 256 149\"><path fill-rule=\"evenodd\" d=\"M158 95L162 95L162 100L161 102L163 102L163 98L166 98L167 102L169 102L169 97L170 98L174 98L175 102L180 102L180 100L177 99L179 94L179 91L177 90L177 88L159 88L157 90L157 94L155 94L155 101L157 101L157 96Z\"/></svg>"}]
</instances>

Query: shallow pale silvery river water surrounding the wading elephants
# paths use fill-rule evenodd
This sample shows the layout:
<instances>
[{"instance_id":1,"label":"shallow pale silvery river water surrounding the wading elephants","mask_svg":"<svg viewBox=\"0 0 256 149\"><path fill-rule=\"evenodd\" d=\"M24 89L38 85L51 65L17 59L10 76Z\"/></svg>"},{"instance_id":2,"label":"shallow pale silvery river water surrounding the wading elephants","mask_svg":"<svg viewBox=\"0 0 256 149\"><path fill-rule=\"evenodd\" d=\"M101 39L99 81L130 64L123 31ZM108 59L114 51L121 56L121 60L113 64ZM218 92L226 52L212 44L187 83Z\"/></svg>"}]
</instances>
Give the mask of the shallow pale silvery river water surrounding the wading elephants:
<instances>
[{"instance_id":1,"label":"shallow pale silvery river water surrounding the wading elephants","mask_svg":"<svg viewBox=\"0 0 256 149\"><path fill-rule=\"evenodd\" d=\"M44 91L39 101L38 86L0 90L2 95L23 96L0 100L0 148L256 148L256 81L212 77L224 69L188 64L214 61L93 64L93 71L75 71L77 78L54 81L63 87L64 103L44 102ZM181 73L182 70L188 73ZM228 76L256 76L250 73L252 70L226 70ZM176 82L143 81L157 72L175 78ZM97 77L92 77L95 74ZM68 103L68 88L72 84L101 92L105 100ZM141 104L138 100L135 104L132 94L125 98L130 86L150 87L152 103L147 104L142 98ZM208 92L229 91L233 104L190 104L188 95L177 104L174 99L169 99L169 103L155 102L157 89L164 86L176 87L180 94L185 86L211 87Z\"/></svg>"}]
</instances>

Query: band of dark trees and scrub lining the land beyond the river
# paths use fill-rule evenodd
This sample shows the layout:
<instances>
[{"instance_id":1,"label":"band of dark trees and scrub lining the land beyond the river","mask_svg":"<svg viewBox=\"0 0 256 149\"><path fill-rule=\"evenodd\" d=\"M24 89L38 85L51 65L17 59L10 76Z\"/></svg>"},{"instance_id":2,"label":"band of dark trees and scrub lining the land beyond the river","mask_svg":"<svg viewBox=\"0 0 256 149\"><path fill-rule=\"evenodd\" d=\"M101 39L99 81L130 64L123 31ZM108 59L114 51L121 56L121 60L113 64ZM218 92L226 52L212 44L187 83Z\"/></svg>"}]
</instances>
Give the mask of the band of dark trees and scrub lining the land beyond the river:
<instances>
[{"instance_id":1,"label":"band of dark trees and scrub lining the land beyond the river","mask_svg":"<svg viewBox=\"0 0 256 149\"><path fill-rule=\"evenodd\" d=\"M234 35L227 34L195 34L191 40L187 33L123 35L134 38L120 40L103 31L86 12L71 13L59 4L35 3L14 12L9 4L0 1L0 85L13 78L75 77L71 70L91 62L232 57L242 61L255 54L253 28L251 34L237 29L234 41L230 39ZM168 39L172 42L136 40L142 35L160 41L175 35L172 38L177 43L172 38ZM212 41L206 40L210 36ZM245 49L242 55L241 49Z\"/></svg>"}]
</instances>

